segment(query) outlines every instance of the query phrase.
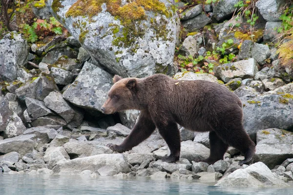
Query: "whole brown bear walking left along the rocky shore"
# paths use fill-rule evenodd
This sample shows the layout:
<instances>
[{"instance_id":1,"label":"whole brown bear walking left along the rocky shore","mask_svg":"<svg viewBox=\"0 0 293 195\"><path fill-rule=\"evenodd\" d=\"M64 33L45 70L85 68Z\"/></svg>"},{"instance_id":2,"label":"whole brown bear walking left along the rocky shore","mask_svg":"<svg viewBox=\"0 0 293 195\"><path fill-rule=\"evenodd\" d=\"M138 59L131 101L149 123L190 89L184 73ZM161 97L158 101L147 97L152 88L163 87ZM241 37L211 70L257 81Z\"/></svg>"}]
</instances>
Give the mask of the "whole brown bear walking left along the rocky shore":
<instances>
[{"instance_id":1,"label":"whole brown bear walking left along the rocky shore","mask_svg":"<svg viewBox=\"0 0 293 195\"><path fill-rule=\"evenodd\" d=\"M225 86L205 80L175 80L162 74L146 78L115 75L113 81L101 110L105 114L127 109L141 112L120 145L107 145L111 150L119 153L131 150L157 127L170 149L170 155L163 161L175 162L180 156L178 123L191 131L209 131L210 155L195 161L213 164L223 159L229 146L244 154L240 165L253 160L255 144L242 124L241 100Z\"/></svg>"}]
</instances>

